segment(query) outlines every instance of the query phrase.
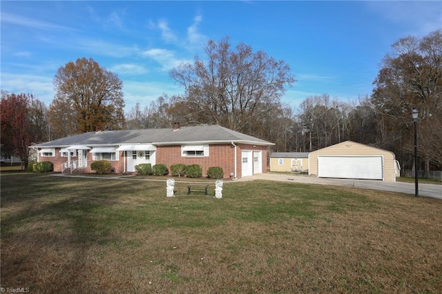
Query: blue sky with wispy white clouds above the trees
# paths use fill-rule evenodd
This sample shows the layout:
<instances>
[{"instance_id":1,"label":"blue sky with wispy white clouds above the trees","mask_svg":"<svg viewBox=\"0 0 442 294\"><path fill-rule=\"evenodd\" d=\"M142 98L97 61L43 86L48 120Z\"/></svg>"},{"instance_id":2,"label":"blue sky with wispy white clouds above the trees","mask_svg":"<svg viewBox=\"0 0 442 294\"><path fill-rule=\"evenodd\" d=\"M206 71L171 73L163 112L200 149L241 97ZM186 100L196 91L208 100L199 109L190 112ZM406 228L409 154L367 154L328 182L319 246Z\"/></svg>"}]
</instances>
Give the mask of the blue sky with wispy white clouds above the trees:
<instances>
[{"instance_id":1,"label":"blue sky with wispy white clouds above the trees","mask_svg":"<svg viewBox=\"0 0 442 294\"><path fill-rule=\"evenodd\" d=\"M182 61L229 36L289 64L282 101L370 95L383 57L402 37L442 28L442 1L1 1L1 89L48 106L57 69L93 58L124 83L126 112L164 93Z\"/></svg>"}]
</instances>

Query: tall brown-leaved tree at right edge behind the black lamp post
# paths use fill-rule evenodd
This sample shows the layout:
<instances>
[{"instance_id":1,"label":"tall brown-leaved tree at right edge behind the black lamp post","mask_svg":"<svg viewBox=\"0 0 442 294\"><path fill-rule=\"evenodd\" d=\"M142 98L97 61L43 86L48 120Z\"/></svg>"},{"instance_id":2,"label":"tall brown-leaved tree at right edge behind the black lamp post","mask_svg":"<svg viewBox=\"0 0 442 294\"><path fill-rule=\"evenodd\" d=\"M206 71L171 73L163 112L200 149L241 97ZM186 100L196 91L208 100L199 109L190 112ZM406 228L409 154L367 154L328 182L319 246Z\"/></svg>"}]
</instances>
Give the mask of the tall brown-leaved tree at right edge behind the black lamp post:
<instances>
[{"instance_id":1,"label":"tall brown-leaved tree at right edge behind the black lamp post","mask_svg":"<svg viewBox=\"0 0 442 294\"><path fill-rule=\"evenodd\" d=\"M417 39L406 37L392 46L392 55L383 59L374 81L372 103L383 115L387 137L392 144L411 153L413 150L412 108L419 110L419 155L425 170L442 165L442 31ZM430 139L431 138L431 139Z\"/></svg>"}]
</instances>

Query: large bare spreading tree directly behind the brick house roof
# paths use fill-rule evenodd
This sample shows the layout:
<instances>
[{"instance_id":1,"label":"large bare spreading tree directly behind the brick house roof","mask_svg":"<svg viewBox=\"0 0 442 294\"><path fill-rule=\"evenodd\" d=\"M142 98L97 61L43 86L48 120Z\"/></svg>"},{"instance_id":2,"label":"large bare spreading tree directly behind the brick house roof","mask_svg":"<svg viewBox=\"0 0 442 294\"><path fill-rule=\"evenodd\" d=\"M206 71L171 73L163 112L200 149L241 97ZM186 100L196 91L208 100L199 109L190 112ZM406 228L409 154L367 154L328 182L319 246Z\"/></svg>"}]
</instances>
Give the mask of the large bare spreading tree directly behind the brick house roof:
<instances>
[{"instance_id":1,"label":"large bare spreading tree directly behind the brick house roof","mask_svg":"<svg viewBox=\"0 0 442 294\"><path fill-rule=\"evenodd\" d=\"M295 81L285 61L253 52L244 43L232 50L228 37L209 41L206 56L171 70L171 78L185 88L179 102L189 110L189 121L253 135L262 129L262 116L280 110L285 86Z\"/></svg>"}]
</instances>

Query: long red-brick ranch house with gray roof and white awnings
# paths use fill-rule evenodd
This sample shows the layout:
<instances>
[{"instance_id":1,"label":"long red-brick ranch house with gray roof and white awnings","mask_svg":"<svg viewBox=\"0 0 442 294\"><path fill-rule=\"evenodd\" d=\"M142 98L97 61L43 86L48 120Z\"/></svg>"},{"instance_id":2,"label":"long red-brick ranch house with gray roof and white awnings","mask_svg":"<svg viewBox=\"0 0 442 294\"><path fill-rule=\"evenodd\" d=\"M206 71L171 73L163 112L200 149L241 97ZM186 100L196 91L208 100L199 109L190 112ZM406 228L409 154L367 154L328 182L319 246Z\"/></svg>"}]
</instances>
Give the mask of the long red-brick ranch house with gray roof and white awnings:
<instances>
[{"instance_id":1,"label":"long red-brick ranch house with gray roof and white awnings","mask_svg":"<svg viewBox=\"0 0 442 294\"><path fill-rule=\"evenodd\" d=\"M111 161L115 173L133 173L137 164L199 164L203 176L220 166L224 177L267 171L267 147L274 145L222 126L185 126L83 133L33 145L37 161L51 161L60 173L92 173L90 163Z\"/></svg>"}]
</instances>

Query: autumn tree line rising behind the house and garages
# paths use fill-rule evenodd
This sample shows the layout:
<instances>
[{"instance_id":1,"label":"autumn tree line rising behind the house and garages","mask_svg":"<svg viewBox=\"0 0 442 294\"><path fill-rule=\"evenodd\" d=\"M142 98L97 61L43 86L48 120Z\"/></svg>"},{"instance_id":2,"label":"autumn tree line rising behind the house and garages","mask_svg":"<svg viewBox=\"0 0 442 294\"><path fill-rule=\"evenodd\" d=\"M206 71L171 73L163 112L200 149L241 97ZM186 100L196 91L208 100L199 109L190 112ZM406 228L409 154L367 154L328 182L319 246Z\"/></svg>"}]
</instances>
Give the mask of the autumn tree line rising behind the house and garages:
<instances>
[{"instance_id":1,"label":"autumn tree line rising behind the house and garages","mask_svg":"<svg viewBox=\"0 0 442 294\"><path fill-rule=\"evenodd\" d=\"M32 95L2 91L1 152L12 152L13 144L5 138L12 140L17 132L11 130L19 128L8 124L11 120L6 117L13 112L8 110L15 103L12 97L21 97L16 102L26 104L23 109L28 112L20 119L29 124L23 124L20 131L41 128L32 131L39 134L28 138L32 142L97 129L171 128L174 122L220 124L271 141L276 144L272 150L278 152L311 152L345 140L357 141L391 150L403 168L411 169L414 128L410 113L416 108L419 169L441 169L441 62L441 30L420 39L405 37L381 61L371 95L352 102L314 95L291 108L281 101L285 89L296 83L289 65L265 52L254 52L244 43L233 48L225 37L218 43L209 41L204 58L195 57L192 63L171 70L171 79L184 89L181 95L164 94L145 106L137 103L124 115L122 81L93 59L81 58L59 68L54 78L57 92L48 107Z\"/></svg>"}]
</instances>

